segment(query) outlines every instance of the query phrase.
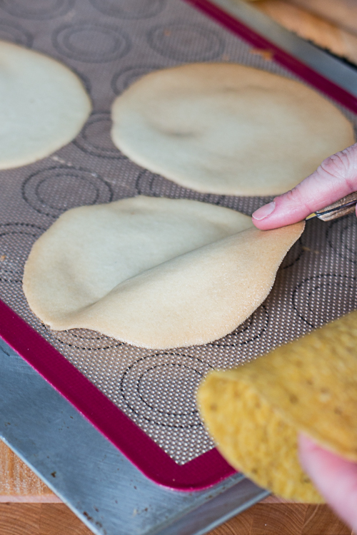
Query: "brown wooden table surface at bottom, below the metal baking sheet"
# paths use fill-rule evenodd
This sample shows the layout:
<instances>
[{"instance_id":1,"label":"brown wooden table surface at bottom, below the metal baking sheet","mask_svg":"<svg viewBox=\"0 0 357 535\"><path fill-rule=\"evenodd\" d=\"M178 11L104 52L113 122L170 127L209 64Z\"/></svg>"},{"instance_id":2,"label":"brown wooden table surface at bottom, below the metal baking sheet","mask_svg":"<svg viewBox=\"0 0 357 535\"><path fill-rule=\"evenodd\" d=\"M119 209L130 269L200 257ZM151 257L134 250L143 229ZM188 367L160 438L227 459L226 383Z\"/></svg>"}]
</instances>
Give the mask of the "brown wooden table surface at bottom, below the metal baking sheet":
<instances>
[{"instance_id":1,"label":"brown wooden table surface at bottom, below the metal baking sheet","mask_svg":"<svg viewBox=\"0 0 357 535\"><path fill-rule=\"evenodd\" d=\"M210 535L351 535L326 505L268 496ZM71 510L0 441L0 535L91 535Z\"/></svg>"}]
</instances>

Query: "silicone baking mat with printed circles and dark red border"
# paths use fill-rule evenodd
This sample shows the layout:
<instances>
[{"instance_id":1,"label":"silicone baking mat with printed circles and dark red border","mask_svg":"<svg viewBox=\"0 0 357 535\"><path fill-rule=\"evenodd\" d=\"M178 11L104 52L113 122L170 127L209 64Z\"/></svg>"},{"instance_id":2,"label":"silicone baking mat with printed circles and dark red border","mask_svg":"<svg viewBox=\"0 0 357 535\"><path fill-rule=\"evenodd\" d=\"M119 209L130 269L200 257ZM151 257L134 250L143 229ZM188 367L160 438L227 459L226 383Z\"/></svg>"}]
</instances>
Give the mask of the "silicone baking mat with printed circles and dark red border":
<instances>
[{"instance_id":1,"label":"silicone baking mat with printed circles and dark red border","mask_svg":"<svg viewBox=\"0 0 357 535\"><path fill-rule=\"evenodd\" d=\"M356 218L309 221L268 299L246 322L211 344L164 352L89 330L49 330L24 298L24 262L41 233L75 206L140 194L190 198L250 215L270 200L181 188L139 168L114 147L111 103L145 73L225 61L303 76L353 123L356 99L206 0L1 0L0 39L66 63L94 106L72 143L33 165L0 172L0 334L149 477L176 489L213 484L233 469L213 449L198 417L198 383L212 368L248 362L357 308Z\"/></svg>"}]
</instances>

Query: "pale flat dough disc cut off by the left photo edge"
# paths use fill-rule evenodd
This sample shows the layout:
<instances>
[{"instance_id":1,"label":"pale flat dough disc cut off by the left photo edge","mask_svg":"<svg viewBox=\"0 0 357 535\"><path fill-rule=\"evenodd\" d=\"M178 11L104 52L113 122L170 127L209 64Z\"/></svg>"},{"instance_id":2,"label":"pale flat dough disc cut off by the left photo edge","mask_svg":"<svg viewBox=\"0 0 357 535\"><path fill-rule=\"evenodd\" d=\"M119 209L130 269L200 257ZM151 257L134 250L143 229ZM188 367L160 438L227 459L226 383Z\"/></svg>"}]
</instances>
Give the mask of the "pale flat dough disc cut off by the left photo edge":
<instances>
[{"instance_id":1,"label":"pale flat dough disc cut off by the left photo edge","mask_svg":"<svg viewBox=\"0 0 357 535\"><path fill-rule=\"evenodd\" d=\"M76 137L91 102L58 61L0 41L0 169L33 163Z\"/></svg>"}]
</instances>

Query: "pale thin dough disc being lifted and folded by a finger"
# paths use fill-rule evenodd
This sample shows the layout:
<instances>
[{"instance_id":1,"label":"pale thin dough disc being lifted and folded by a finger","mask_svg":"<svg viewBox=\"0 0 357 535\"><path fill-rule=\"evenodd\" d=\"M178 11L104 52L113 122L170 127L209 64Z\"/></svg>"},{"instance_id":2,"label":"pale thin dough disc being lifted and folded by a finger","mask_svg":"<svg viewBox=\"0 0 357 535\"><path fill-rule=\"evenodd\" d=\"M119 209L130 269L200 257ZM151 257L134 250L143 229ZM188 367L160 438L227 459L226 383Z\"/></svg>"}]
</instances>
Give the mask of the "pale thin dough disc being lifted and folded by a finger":
<instances>
[{"instance_id":1,"label":"pale thin dough disc being lifted and folded by a finger","mask_svg":"<svg viewBox=\"0 0 357 535\"><path fill-rule=\"evenodd\" d=\"M193 200L82 206L36 241L24 292L55 330L89 328L158 349L203 344L261 304L302 230L263 232L246 215Z\"/></svg>"}]
</instances>

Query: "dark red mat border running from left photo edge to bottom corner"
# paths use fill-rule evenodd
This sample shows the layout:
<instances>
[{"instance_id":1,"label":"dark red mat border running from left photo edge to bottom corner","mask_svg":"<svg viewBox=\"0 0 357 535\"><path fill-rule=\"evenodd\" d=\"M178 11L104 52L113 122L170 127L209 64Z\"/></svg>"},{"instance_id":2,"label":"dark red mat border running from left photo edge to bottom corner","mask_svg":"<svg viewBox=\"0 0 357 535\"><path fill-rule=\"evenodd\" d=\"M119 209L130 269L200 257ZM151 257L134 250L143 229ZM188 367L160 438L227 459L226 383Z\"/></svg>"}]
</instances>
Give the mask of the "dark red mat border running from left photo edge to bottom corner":
<instances>
[{"instance_id":1,"label":"dark red mat border running from left photo edge to bottom corner","mask_svg":"<svg viewBox=\"0 0 357 535\"><path fill-rule=\"evenodd\" d=\"M235 472L216 449L183 465L174 462L84 374L1 301L0 325L5 342L156 483L176 490L200 490Z\"/></svg>"}]
</instances>

